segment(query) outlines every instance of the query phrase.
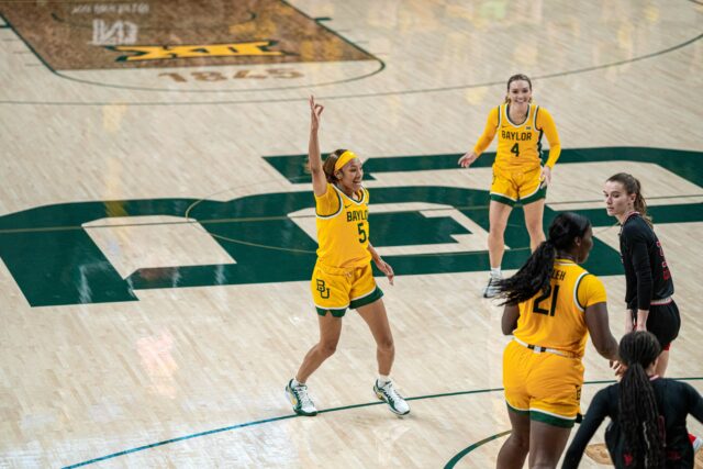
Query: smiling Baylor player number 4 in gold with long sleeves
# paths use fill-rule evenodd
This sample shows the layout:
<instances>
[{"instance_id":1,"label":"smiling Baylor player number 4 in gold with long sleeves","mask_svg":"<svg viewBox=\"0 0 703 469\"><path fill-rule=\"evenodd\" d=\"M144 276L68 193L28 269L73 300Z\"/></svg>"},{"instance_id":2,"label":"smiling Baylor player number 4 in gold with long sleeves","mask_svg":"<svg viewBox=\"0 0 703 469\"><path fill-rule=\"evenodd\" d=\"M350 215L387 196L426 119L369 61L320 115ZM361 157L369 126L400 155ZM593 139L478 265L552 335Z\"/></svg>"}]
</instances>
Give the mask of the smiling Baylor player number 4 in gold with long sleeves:
<instances>
[{"instance_id":1,"label":"smiling Baylor player number 4 in gold with long sleeves","mask_svg":"<svg viewBox=\"0 0 703 469\"><path fill-rule=\"evenodd\" d=\"M486 298L496 292L495 282L501 278L505 250L503 235L515 202L523 205L532 250L545 239L542 228L545 197L551 181L551 168L561 153L551 114L532 102L532 82L524 75L510 77L505 102L489 113L483 135L472 152L459 158L459 165L466 168L476 161L495 134L498 150L493 164L488 237L491 277L483 290ZM543 134L549 142L549 157L544 166L540 159Z\"/></svg>"}]
</instances>

